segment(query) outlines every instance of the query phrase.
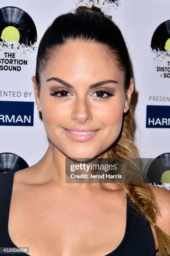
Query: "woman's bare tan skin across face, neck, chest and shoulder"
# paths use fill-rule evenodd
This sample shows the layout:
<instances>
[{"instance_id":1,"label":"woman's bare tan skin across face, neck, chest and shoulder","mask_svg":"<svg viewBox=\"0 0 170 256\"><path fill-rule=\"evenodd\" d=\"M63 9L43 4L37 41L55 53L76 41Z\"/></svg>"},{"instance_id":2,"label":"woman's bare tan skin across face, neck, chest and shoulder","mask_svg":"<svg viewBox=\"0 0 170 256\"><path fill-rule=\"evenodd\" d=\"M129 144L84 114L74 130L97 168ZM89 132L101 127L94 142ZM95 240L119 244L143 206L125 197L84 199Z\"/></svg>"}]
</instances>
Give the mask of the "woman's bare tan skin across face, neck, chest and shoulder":
<instances>
[{"instance_id":1,"label":"woman's bare tan skin across face, neck, chest and shoulder","mask_svg":"<svg viewBox=\"0 0 170 256\"><path fill-rule=\"evenodd\" d=\"M56 77L72 88L51 79ZM104 80L117 82L89 89ZM107 148L119 136L125 106L130 104L133 78L125 94L124 73L100 44L70 40L43 69L39 97L35 77L32 82L50 144L37 164L15 172L10 238L18 247L28 246L33 256L106 255L117 248L125 233L126 193L117 190L116 184L108 189L100 183L65 183L65 158L108 157ZM62 88L69 90L66 97L51 95ZM100 99L107 95L99 96L99 89L114 96ZM100 131L80 142L64 130L80 127ZM157 224L170 235L170 191L150 186L162 212Z\"/></svg>"}]
</instances>

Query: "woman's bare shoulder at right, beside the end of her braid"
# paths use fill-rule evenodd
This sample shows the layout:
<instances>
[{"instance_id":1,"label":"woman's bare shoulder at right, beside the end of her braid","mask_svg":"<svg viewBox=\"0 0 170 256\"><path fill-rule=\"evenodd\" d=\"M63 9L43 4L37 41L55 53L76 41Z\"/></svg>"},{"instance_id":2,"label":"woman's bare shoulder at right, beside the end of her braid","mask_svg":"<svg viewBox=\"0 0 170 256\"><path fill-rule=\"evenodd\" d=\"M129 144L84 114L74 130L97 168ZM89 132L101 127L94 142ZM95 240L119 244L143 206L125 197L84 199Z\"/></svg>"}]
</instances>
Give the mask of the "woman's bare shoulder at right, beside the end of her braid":
<instances>
[{"instance_id":1,"label":"woman's bare shoulder at right, beside the end of her braid","mask_svg":"<svg viewBox=\"0 0 170 256\"><path fill-rule=\"evenodd\" d=\"M157 216L156 224L170 236L170 190L149 184L158 202L160 215Z\"/></svg>"}]
</instances>

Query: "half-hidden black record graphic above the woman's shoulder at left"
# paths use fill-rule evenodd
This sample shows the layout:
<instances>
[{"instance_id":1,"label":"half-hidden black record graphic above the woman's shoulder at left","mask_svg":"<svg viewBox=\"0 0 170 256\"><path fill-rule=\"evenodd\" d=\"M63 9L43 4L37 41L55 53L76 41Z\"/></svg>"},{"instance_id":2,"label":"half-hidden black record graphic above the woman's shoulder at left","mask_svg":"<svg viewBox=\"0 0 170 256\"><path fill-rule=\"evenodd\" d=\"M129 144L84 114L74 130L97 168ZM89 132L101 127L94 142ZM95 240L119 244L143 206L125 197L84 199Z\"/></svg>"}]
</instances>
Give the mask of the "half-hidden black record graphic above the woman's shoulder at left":
<instances>
[{"instance_id":1,"label":"half-hidden black record graphic above the woman's shoulder at left","mask_svg":"<svg viewBox=\"0 0 170 256\"><path fill-rule=\"evenodd\" d=\"M23 158L13 153L0 154L0 172L19 171L29 167Z\"/></svg>"}]
</instances>

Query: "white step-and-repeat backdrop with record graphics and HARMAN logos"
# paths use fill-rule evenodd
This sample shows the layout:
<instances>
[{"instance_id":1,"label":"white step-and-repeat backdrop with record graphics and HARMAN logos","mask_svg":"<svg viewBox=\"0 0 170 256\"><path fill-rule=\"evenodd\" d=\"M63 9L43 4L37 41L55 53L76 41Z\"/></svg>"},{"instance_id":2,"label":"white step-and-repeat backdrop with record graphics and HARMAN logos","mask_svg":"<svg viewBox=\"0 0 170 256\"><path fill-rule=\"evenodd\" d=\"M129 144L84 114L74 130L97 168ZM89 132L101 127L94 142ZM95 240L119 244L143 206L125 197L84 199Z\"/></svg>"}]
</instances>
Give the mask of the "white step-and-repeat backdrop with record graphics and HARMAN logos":
<instances>
[{"instance_id":1,"label":"white step-and-repeat backdrop with record graphics and HARMAN logos","mask_svg":"<svg viewBox=\"0 0 170 256\"><path fill-rule=\"evenodd\" d=\"M137 95L135 143L141 158L153 159L146 174L159 172L156 185L170 189L169 0L0 1L0 172L24 169L45 154L49 142L31 80L37 46L58 15L92 4L125 38ZM155 159L162 160L151 168Z\"/></svg>"}]
</instances>

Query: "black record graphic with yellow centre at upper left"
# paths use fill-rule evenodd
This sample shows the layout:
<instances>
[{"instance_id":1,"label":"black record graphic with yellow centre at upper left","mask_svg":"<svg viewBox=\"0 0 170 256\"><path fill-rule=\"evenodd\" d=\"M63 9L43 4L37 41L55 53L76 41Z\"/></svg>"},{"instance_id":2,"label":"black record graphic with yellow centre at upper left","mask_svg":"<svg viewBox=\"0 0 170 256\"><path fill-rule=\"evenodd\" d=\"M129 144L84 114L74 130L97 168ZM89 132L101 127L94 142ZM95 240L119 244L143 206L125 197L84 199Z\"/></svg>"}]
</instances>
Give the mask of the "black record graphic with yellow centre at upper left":
<instances>
[{"instance_id":1,"label":"black record graphic with yellow centre at upper left","mask_svg":"<svg viewBox=\"0 0 170 256\"><path fill-rule=\"evenodd\" d=\"M37 30L28 13L18 7L0 9L0 41L30 46L37 41Z\"/></svg>"}]
</instances>

